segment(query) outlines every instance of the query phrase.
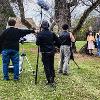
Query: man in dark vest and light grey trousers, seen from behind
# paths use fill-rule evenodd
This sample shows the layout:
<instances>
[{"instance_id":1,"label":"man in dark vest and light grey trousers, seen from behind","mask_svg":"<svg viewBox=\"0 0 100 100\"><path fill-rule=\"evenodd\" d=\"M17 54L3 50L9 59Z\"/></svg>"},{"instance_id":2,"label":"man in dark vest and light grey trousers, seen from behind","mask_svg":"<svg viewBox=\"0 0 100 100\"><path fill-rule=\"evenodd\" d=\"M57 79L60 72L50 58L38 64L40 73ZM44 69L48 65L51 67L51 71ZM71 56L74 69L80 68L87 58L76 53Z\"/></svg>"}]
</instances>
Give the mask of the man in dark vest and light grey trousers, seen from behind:
<instances>
[{"instance_id":1,"label":"man in dark vest and light grey trousers, seen from behind","mask_svg":"<svg viewBox=\"0 0 100 100\"><path fill-rule=\"evenodd\" d=\"M59 65L59 73L63 73L63 75L68 75L68 66L69 60L71 56L71 43L75 42L75 38L71 32L68 32L68 25L64 24L62 26L63 32L60 34L61 47L60 47L60 65Z\"/></svg>"}]
</instances>

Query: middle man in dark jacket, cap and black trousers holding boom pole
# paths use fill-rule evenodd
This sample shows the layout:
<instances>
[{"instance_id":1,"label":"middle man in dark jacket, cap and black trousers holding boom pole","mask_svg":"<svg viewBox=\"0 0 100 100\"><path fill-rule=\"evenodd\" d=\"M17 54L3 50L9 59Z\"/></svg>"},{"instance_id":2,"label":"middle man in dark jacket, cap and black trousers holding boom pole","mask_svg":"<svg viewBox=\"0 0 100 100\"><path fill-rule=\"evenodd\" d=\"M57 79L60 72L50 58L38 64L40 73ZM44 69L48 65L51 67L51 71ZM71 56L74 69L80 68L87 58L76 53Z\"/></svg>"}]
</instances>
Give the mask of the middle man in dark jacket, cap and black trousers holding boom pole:
<instances>
[{"instance_id":1,"label":"middle man in dark jacket, cap and black trousers holding boom pole","mask_svg":"<svg viewBox=\"0 0 100 100\"><path fill-rule=\"evenodd\" d=\"M42 31L38 33L36 44L40 46L40 52L42 54L42 62L47 78L47 84L54 83L55 71L54 71L54 53L55 44L60 47L59 38L49 31L48 21L43 21L41 25Z\"/></svg>"}]
</instances>

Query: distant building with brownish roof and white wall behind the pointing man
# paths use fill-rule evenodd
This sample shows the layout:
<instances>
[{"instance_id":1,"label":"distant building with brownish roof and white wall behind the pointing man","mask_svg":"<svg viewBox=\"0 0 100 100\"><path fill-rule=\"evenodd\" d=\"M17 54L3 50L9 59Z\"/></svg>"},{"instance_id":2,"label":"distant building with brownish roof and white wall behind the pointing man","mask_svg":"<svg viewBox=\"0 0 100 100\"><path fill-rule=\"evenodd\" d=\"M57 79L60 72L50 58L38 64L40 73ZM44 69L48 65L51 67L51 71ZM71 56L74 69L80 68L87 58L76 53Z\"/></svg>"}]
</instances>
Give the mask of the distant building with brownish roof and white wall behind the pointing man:
<instances>
[{"instance_id":1,"label":"distant building with brownish roof and white wall behind the pointing man","mask_svg":"<svg viewBox=\"0 0 100 100\"><path fill-rule=\"evenodd\" d=\"M10 17L9 19L15 19L16 20L16 25L15 25L16 28L28 29L25 25L22 24L21 18L19 18L19 17ZM37 28L37 26L36 26L36 24L35 24L35 22L33 21L32 18L25 18L25 19L32 25L32 27ZM7 24L6 28L8 28L8 27L9 26ZM34 34L26 35L24 38L26 39L27 42L35 42L36 41L36 37L35 37Z\"/></svg>"}]
</instances>

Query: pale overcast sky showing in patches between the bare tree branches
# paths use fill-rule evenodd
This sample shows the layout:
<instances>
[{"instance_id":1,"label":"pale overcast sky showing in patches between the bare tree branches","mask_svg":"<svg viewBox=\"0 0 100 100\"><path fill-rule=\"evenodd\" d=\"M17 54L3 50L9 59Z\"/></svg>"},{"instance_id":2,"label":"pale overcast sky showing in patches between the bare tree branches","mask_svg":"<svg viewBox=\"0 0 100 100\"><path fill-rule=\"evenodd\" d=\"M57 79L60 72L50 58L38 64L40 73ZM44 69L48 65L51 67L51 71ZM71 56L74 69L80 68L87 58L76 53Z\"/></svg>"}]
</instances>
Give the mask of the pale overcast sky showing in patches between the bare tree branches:
<instances>
[{"instance_id":1,"label":"pale overcast sky showing in patches between the bare tree branches","mask_svg":"<svg viewBox=\"0 0 100 100\"><path fill-rule=\"evenodd\" d=\"M43 10L43 19L47 19L49 20L50 16L54 15L54 0L44 0L48 5L49 5L49 10L48 11L44 11ZM16 13L17 16L19 16L19 11L18 11L18 7L16 7L16 4L12 4L14 11ZM25 10L25 17L26 18L33 18L33 20L35 21L35 23L37 25L39 25L40 21L41 21L41 8L40 6L38 6L37 4L37 0L24 0L24 10ZM76 16L79 17L84 10L86 9L86 6L83 5L79 5L78 7L76 7L76 9L73 11L72 16Z\"/></svg>"}]
</instances>

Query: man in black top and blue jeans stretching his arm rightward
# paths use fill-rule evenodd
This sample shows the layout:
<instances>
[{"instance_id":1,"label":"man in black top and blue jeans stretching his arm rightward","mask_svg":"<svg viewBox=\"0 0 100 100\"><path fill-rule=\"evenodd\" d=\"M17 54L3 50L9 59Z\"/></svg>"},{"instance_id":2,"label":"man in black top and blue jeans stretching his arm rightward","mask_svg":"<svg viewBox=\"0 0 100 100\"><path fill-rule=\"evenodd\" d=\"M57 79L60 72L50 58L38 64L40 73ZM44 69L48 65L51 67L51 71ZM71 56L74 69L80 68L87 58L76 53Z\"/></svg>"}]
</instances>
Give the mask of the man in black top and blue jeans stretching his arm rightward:
<instances>
[{"instance_id":1,"label":"man in black top and blue jeans stretching his arm rightward","mask_svg":"<svg viewBox=\"0 0 100 100\"><path fill-rule=\"evenodd\" d=\"M27 34L35 33L34 30L22 30L15 28L16 21L10 19L8 21L9 28L5 29L0 35L0 43L2 43L2 61L4 80L9 80L8 66L10 59L14 66L14 80L19 79L19 40Z\"/></svg>"}]
</instances>

